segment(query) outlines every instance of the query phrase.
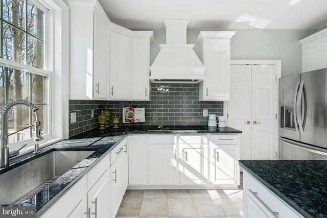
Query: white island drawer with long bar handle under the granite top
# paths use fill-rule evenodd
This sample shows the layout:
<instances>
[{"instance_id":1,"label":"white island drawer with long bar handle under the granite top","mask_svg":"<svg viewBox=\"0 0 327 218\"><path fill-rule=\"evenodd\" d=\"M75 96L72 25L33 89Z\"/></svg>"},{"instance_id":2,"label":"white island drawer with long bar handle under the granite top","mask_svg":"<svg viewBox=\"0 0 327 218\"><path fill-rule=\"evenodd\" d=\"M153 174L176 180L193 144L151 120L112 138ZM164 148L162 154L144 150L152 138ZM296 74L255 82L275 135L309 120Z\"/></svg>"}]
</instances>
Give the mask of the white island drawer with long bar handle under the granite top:
<instances>
[{"instance_id":1,"label":"white island drawer with long bar handle under the granite top","mask_svg":"<svg viewBox=\"0 0 327 218\"><path fill-rule=\"evenodd\" d=\"M274 217L273 212L278 212L280 218L303 217L292 207L276 196L261 182L254 179L247 172L243 172L244 192L267 214ZM269 211L269 209L270 211Z\"/></svg>"}]
</instances>

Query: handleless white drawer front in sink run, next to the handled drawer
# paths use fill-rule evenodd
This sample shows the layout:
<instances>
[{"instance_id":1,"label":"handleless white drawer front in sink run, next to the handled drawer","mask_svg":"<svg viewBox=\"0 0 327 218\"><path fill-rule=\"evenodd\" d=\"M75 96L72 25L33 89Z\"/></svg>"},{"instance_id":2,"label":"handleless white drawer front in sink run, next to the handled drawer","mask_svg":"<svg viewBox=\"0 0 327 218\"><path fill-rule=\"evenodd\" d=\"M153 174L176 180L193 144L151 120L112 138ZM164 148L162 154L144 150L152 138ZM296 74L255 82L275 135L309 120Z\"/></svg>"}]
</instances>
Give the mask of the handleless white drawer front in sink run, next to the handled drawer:
<instances>
[{"instance_id":1,"label":"handleless white drawer front in sink run, next to the handled drawer","mask_svg":"<svg viewBox=\"0 0 327 218\"><path fill-rule=\"evenodd\" d=\"M107 154L95 167L87 174L87 190L89 190L101 177L101 175L109 168L110 156Z\"/></svg>"}]
</instances>

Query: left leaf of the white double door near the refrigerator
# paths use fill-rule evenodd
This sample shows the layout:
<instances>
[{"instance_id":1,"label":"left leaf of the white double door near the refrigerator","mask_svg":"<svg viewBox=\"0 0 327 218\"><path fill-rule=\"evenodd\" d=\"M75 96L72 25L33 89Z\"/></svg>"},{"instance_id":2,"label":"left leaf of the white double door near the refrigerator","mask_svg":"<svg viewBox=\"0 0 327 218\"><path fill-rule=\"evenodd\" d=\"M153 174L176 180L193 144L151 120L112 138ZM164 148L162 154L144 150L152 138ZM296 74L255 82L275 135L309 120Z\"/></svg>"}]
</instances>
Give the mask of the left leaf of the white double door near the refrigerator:
<instances>
[{"instance_id":1,"label":"left leaf of the white double door near the refrigerator","mask_svg":"<svg viewBox=\"0 0 327 218\"><path fill-rule=\"evenodd\" d=\"M231 65L228 126L242 131L241 159L251 159L251 65Z\"/></svg>"}]
</instances>

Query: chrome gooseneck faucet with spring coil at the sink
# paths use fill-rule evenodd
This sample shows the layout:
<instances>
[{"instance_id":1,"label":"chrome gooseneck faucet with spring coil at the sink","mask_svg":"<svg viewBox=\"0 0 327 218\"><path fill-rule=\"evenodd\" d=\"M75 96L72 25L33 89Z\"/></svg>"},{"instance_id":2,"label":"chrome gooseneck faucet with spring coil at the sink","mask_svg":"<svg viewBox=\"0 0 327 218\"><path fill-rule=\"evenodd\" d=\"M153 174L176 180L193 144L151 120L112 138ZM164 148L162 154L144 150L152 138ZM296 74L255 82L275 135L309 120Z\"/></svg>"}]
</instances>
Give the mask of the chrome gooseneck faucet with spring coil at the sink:
<instances>
[{"instance_id":1,"label":"chrome gooseneck faucet with spring coil at the sink","mask_svg":"<svg viewBox=\"0 0 327 218\"><path fill-rule=\"evenodd\" d=\"M1 120L2 121L2 135L1 135L1 147L0 147L0 167L8 166L9 165L9 158L18 155L19 150L26 146L26 144L25 144L19 150L9 152L8 136L21 131L21 130L18 130L18 131L14 132L14 133L8 134L8 112L12 107L14 107L16 105L29 106L32 109L32 111L35 113L35 122L34 122L34 124L32 124L31 126L28 126L26 128L23 128L21 130L25 130L25 129L30 128L30 127L32 127L34 125L34 127L35 127L34 141L40 141L40 140L43 139L42 135L41 135L41 122L39 120L39 115L37 113L38 108L36 106L34 106L34 104L32 104L31 102L28 102L26 100L17 100L17 101L13 101L13 102L9 103L9 105L7 105L5 107L5 109L4 109L3 113L2 113L2 120ZM34 150L35 150L35 152L38 152L38 144L36 144Z\"/></svg>"}]
</instances>

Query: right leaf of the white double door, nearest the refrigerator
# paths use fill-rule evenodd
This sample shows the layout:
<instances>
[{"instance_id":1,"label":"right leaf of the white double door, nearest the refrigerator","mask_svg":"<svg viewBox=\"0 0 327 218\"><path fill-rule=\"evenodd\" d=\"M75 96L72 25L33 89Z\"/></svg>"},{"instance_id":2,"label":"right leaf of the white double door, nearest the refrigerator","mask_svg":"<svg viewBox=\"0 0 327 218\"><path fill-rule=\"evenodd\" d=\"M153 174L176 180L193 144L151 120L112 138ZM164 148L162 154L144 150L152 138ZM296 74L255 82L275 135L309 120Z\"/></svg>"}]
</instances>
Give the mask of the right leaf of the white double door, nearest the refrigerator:
<instances>
[{"instance_id":1,"label":"right leaf of the white double door, nearest the refrigerator","mask_svg":"<svg viewBox=\"0 0 327 218\"><path fill-rule=\"evenodd\" d=\"M273 159L276 151L275 75L275 65L252 65L252 159Z\"/></svg>"}]
</instances>

